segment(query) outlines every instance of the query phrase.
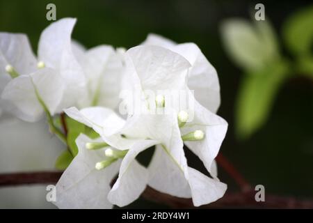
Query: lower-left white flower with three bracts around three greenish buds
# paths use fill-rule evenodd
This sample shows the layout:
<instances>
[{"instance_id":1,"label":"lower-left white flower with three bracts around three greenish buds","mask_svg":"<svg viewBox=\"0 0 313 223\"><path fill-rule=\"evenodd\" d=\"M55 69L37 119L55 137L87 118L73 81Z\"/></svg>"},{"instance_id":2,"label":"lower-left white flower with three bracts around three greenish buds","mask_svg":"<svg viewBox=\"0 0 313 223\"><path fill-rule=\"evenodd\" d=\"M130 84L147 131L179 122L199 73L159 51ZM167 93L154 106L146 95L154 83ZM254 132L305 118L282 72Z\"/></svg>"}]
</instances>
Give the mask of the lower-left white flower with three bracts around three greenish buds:
<instances>
[{"instance_id":1,"label":"lower-left white flower with three bracts around three greenish buds","mask_svg":"<svg viewBox=\"0 0 313 223\"><path fill-rule=\"evenodd\" d=\"M83 135L77 139L79 153L57 184L59 199L56 206L110 208L112 204L125 206L138 199L147 185L148 173L135 157L157 144L157 141L121 137L113 126L124 125L124 121L110 109L93 107L79 112L70 108L65 112L94 128L102 139L92 140ZM115 145L122 145L121 149L117 150ZM124 146L127 149L123 149ZM118 173L118 179L111 189L110 183Z\"/></svg>"}]
</instances>

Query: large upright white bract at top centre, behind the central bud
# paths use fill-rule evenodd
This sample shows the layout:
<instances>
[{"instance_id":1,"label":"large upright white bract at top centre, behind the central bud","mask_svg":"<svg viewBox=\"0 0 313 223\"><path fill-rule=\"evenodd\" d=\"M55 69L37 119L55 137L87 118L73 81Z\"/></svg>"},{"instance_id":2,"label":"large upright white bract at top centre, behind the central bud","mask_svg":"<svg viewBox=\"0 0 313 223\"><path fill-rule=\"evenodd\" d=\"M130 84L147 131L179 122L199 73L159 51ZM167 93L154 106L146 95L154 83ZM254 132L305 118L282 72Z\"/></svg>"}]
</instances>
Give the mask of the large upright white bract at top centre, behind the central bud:
<instances>
[{"instance_id":1,"label":"large upright white bract at top centre, behind the central bud","mask_svg":"<svg viewBox=\"0 0 313 223\"><path fill-rule=\"evenodd\" d=\"M122 98L128 114L179 109L173 95L184 89L191 66L183 56L159 46L137 46L127 50L125 64Z\"/></svg>"}]
</instances>

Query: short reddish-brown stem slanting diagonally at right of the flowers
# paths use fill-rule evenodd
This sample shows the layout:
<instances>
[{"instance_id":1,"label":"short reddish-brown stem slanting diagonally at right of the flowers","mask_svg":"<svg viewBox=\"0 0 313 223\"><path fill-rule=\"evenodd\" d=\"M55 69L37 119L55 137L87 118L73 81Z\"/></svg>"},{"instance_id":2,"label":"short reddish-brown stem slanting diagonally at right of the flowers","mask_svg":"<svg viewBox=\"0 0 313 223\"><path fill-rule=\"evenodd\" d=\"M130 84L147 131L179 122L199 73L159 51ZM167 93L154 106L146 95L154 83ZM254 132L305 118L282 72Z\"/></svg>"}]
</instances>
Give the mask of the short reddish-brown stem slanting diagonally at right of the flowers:
<instances>
[{"instance_id":1,"label":"short reddish-brown stem slanting diagonally at right of the flowers","mask_svg":"<svg viewBox=\"0 0 313 223\"><path fill-rule=\"evenodd\" d=\"M227 174L230 174L230 176L236 181L237 185L239 185L242 192L248 192L251 190L250 183L248 183L248 181L240 174L234 165L223 156L222 153L218 153L216 162L227 172Z\"/></svg>"}]
</instances>

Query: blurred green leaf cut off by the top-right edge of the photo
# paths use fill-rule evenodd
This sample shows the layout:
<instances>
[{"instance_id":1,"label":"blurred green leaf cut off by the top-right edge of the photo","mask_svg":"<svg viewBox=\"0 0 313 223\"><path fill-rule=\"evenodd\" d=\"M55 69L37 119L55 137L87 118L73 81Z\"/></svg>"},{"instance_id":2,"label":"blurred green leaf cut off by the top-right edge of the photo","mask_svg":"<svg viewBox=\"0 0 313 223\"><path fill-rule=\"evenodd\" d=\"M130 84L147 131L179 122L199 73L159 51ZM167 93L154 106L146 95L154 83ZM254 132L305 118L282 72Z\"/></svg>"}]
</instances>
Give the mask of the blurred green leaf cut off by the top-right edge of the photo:
<instances>
[{"instance_id":1,"label":"blurred green leaf cut off by the top-right edge of the photo","mask_svg":"<svg viewBox=\"0 0 313 223\"><path fill-rule=\"evenodd\" d=\"M294 54L312 52L313 6L304 8L287 20L283 26L284 40Z\"/></svg>"}]
</instances>

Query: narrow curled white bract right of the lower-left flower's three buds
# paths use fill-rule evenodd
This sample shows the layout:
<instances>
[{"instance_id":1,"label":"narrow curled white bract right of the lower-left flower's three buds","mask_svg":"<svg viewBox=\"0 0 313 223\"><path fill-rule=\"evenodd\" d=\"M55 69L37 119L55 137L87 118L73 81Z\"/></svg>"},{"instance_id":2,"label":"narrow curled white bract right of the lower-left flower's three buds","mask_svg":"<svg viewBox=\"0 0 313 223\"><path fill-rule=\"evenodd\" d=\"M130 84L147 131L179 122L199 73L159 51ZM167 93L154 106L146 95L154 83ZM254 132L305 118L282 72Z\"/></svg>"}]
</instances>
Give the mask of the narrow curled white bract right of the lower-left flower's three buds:
<instances>
[{"instance_id":1,"label":"narrow curled white bract right of the lower-left flower's three buds","mask_svg":"<svg viewBox=\"0 0 313 223\"><path fill-rule=\"evenodd\" d=\"M120 207L138 199L147 185L147 169L135 157L141 151L154 145L152 140L141 140L134 144L122 160L118 180L109 192L108 199Z\"/></svg>"}]
</instances>

